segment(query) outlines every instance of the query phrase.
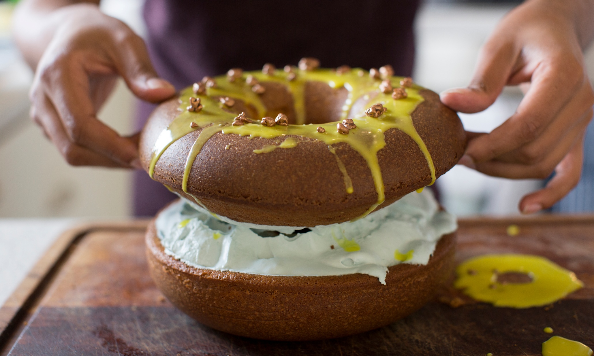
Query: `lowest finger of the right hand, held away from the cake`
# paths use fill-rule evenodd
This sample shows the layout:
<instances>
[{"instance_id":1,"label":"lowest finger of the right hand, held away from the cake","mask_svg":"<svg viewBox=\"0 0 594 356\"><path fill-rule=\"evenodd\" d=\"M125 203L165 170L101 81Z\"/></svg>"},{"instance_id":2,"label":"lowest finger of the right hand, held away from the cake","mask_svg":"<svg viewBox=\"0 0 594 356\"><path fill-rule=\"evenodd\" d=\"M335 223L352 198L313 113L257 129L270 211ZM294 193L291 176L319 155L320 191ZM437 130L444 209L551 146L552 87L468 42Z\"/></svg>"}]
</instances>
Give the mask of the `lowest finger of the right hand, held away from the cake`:
<instances>
[{"instance_id":1,"label":"lowest finger of the right hand, held away from the cake","mask_svg":"<svg viewBox=\"0 0 594 356\"><path fill-rule=\"evenodd\" d=\"M550 208L577 185L582 174L583 138L582 135L571 148L571 151L565 155L565 158L557 164L555 176L549 180L544 189L537 190L522 198L519 208L523 214L533 214L542 209Z\"/></svg>"}]
</instances>

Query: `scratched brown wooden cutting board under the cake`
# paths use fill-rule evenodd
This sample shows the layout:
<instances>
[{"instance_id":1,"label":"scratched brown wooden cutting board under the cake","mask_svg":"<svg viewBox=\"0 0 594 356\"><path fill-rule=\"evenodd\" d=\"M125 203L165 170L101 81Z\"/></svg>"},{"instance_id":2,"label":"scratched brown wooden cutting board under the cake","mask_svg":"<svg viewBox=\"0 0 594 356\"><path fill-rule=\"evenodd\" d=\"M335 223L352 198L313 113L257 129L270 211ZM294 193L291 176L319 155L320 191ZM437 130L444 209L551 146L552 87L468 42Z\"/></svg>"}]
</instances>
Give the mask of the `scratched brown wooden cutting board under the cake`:
<instances>
[{"instance_id":1,"label":"scratched brown wooden cutting board under the cake","mask_svg":"<svg viewBox=\"0 0 594 356\"><path fill-rule=\"evenodd\" d=\"M317 342L240 338L185 316L147 272L146 224L87 225L58 239L0 309L0 355L540 355L546 326L594 347L594 215L460 221L459 260L530 253L576 272L585 287L551 306L435 301L385 328Z\"/></svg>"}]
</instances>

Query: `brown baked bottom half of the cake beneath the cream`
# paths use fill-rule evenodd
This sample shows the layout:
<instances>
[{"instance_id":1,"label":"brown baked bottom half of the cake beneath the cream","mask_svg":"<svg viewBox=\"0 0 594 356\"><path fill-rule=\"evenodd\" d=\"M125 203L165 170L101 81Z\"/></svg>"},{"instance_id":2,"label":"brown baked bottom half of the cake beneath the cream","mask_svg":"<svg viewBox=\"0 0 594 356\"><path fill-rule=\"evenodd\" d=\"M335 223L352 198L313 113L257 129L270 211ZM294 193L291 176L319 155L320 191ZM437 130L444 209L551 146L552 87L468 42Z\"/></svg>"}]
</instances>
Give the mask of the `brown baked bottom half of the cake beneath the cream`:
<instances>
[{"instance_id":1,"label":"brown baked bottom half of the cake beneath the cream","mask_svg":"<svg viewBox=\"0 0 594 356\"><path fill-rule=\"evenodd\" d=\"M386 285L365 274L266 276L194 268L166 255L154 221L146 244L157 287L198 322L249 338L305 341L380 328L419 309L453 271L456 236L441 237L427 265L388 268Z\"/></svg>"}]
</instances>

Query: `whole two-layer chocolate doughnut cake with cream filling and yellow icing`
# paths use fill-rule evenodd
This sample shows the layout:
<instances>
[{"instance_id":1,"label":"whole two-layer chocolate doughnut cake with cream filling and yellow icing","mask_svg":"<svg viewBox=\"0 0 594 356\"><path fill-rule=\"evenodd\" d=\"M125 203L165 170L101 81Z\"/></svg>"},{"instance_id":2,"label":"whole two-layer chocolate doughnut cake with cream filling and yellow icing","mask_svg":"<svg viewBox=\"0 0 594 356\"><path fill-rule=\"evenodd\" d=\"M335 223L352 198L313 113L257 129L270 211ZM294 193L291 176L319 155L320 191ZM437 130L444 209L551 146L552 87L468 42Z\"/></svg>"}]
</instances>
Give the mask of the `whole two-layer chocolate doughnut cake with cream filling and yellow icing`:
<instances>
[{"instance_id":1,"label":"whole two-layer chocolate doughnut cake with cream filling and yellow icing","mask_svg":"<svg viewBox=\"0 0 594 356\"><path fill-rule=\"evenodd\" d=\"M431 300L456 218L429 189L465 133L437 94L396 77L230 69L160 104L144 169L181 199L146 235L157 287L204 325L251 338L336 338Z\"/></svg>"}]
</instances>

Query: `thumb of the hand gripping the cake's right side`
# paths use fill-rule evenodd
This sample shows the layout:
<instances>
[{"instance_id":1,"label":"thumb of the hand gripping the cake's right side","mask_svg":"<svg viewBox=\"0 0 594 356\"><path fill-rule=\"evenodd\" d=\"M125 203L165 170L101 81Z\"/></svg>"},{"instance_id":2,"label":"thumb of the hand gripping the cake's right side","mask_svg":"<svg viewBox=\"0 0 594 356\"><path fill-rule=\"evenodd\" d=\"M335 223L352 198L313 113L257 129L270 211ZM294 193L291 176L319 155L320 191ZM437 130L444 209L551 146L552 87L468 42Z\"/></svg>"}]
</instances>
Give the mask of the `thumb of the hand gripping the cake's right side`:
<instances>
[{"instance_id":1,"label":"thumb of the hand gripping the cake's right side","mask_svg":"<svg viewBox=\"0 0 594 356\"><path fill-rule=\"evenodd\" d=\"M476 113L494 103L510 77L517 53L513 46L495 34L481 49L472 81L466 88L453 88L440 94L441 101L451 109Z\"/></svg>"}]
</instances>

